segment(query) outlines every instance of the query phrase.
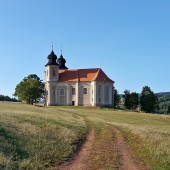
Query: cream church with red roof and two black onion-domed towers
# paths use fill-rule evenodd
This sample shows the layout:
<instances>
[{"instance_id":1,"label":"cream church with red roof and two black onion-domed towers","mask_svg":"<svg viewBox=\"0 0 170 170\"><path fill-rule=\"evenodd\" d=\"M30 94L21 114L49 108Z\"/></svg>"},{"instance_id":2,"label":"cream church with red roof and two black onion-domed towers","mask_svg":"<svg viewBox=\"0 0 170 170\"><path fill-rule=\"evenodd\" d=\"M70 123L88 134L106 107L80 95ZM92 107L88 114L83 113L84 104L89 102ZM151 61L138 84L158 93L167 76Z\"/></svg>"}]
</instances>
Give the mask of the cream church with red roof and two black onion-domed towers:
<instances>
[{"instance_id":1,"label":"cream church with red roof and two black onion-domed towers","mask_svg":"<svg viewBox=\"0 0 170 170\"><path fill-rule=\"evenodd\" d=\"M113 106L114 81L101 68L68 69L53 51L45 65L46 106Z\"/></svg>"}]
</instances>

